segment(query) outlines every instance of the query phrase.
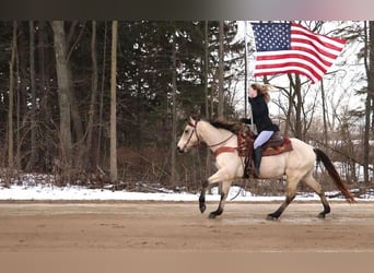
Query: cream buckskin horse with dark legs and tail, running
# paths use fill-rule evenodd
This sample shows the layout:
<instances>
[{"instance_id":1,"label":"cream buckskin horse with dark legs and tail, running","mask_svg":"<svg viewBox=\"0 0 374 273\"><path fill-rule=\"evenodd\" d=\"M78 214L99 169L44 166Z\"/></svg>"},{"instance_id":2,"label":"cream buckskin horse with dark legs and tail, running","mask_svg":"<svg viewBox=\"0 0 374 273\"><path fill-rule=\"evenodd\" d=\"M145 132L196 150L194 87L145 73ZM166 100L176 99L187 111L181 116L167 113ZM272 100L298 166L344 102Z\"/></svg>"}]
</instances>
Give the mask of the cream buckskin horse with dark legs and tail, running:
<instances>
[{"instance_id":1,"label":"cream buckskin horse with dark legs and tail, running","mask_svg":"<svg viewBox=\"0 0 374 273\"><path fill-rule=\"evenodd\" d=\"M227 122L226 122L227 124ZM209 218L222 215L230 187L234 179L243 178L245 171L245 157L237 152L237 134L226 129L223 122L212 122L189 117L187 124L177 143L180 153L187 153L192 147L204 142L215 154L217 171L202 182L199 197L199 209L203 213L206 206L206 192L208 187L221 182L221 200L215 211L210 212ZM342 182L329 157L319 149L296 139L290 138L292 150L278 155L264 156L260 164L259 179L279 178L285 175L285 200L279 209L267 215L267 219L278 219L296 195L300 182L306 183L320 199L324 210L318 217L325 218L330 213L330 205L319 182L313 177L315 162L322 162L337 188L349 203L354 203L353 195ZM218 151L220 151L218 153ZM252 155L249 155L252 156Z\"/></svg>"}]
</instances>

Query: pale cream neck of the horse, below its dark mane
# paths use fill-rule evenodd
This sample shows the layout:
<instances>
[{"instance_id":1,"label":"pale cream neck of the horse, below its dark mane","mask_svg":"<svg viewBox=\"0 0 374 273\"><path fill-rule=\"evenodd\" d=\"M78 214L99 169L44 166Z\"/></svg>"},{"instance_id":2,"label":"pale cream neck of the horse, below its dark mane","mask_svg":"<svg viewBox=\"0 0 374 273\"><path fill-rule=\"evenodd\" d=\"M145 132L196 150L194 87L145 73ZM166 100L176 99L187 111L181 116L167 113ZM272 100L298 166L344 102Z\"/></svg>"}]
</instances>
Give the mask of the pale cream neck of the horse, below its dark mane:
<instances>
[{"instance_id":1,"label":"pale cream neck of the horse, below its dark mane","mask_svg":"<svg viewBox=\"0 0 374 273\"><path fill-rule=\"evenodd\" d=\"M220 146L227 144L225 140L227 140L230 135L232 134L232 132L227 130L217 129L215 127L208 123L207 121L200 121L198 123L197 131L198 131L199 138L201 138L208 146L211 146L212 151L215 151ZM217 145L221 142L224 142L224 143Z\"/></svg>"}]
</instances>

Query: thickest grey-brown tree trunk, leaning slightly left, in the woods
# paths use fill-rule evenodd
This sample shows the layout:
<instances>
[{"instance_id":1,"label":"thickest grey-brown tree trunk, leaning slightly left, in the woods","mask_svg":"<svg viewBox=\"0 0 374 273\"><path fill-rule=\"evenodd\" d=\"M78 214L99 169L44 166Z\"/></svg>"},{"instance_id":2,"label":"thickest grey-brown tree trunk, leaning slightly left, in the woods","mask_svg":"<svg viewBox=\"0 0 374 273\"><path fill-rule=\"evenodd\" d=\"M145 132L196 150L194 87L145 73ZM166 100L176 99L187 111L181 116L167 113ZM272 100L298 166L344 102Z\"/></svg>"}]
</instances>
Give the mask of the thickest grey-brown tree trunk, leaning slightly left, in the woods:
<instances>
[{"instance_id":1,"label":"thickest grey-brown tree trunk, leaning slightly left, in the woods","mask_svg":"<svg viewBox=\"0 0 374 273\"><path fill-rule=\"evenodd\" d=\"M58 84L58 98L60 110L60 149L61 149L61 167L62 178L70 179L69 169L72 163L72 141L70 131L70 100L69 87L70 79L67 63L66 34L63 29L63 21L52 21L54 44L56 56L56 72Z\"/></svg>"}]
</instances>

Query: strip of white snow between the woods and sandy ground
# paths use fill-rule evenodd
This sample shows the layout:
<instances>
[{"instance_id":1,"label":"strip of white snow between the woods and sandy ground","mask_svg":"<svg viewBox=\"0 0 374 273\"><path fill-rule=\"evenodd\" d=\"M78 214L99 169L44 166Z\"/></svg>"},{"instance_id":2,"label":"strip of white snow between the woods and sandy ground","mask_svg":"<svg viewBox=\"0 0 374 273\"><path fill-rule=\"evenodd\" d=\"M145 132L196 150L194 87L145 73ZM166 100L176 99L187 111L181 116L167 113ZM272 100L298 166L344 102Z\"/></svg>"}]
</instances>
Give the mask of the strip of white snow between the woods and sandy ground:
<instances>
[{"instance_id":1,"label":"strip of white snow between the woods and sandy ground","mask_svg":"<svg viewBox=\"0 0 374 273\"><path fill-rule=\"evenodd\" d=\"M329 193L326 193L327 197ZM331 195L334 195L331 193ZM365 200L374 200L372 194L366 194ZM10 188L0 187L0 200L2 201L174 201L174 202L198 202L199 193L189 192L130 192L126 190L113 191L108 189L87 189L79 186L56 187L51 185L12 185ZM207 201L219 201L217 188L207 194ZM256 197L239 187L232 187L229 201L239 202L270 202L282 201L284 197ZM314 201L319 200L313 193L300 193L295 200ZM342 200L334 198L334 200Z\"/></svg>"}]
</instances>

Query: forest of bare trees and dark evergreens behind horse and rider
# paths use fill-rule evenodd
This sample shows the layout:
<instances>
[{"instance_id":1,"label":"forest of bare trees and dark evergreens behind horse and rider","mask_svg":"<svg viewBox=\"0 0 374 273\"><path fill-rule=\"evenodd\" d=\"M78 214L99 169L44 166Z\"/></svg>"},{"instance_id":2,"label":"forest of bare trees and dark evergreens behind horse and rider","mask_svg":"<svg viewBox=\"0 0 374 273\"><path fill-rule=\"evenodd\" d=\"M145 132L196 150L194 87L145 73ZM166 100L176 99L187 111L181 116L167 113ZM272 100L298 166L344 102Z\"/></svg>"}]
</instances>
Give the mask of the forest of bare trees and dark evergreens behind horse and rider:
<instances>
[{"instance_id":1,"label":"forest of bare trees and dark evergreens behind horse and rider","mask_svg":"<svg viewBox=\"0 0 374 273\"><path fill-rule=\"evenodd\" d=\"M250 78L243 22L0 22L1 183L34 173L57 186L196 191L213 158L203 145L176 154L185 118L248 116L244 94L257 81L274 86L282 133L326 151L350 187L373 189L374 22L301 23L347 39L314 85ZM282 193L283 181L247 187Z\"/></svg>"}]
</instances>

